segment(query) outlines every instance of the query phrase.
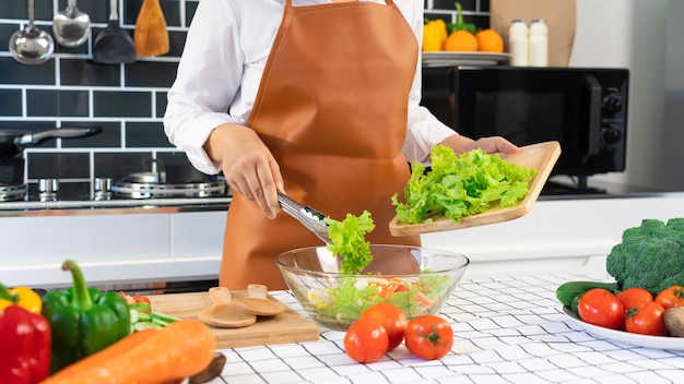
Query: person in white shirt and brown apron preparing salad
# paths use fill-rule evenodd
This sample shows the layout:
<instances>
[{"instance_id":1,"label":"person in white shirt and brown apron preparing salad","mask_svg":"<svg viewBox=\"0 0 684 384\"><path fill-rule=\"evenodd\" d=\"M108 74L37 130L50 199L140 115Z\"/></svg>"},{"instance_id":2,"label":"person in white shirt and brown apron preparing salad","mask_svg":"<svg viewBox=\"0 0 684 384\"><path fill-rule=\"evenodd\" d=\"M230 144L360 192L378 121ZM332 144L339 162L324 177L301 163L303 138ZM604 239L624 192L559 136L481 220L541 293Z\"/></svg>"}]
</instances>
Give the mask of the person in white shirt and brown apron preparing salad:
<instances>
[{"instance_id":1,"label":"person in white shirt and brown apron preparing salad","mask_svg":"<svg viewBox=\"0 0 684 384\"><path fill-rule=\"evenodd\" d=\"M333 219L372 213L372 243L394 238L390 196L408 161L438 143L514 153L502 137L455 134L421 98L423 2L416 0L202 0L168 93L165 131L234 191L220 284L286 288L274 257L322 245L279 214L276 191Z\"/></svg>"}]
</instances>

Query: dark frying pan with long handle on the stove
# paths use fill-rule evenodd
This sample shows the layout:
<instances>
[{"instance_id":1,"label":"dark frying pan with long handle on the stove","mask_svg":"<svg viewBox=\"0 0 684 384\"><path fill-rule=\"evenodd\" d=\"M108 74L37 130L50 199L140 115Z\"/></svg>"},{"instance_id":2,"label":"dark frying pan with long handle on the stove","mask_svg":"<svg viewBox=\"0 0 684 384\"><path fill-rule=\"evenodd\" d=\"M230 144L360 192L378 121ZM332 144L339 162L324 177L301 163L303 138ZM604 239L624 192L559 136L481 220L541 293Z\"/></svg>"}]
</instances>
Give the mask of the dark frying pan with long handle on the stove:
<instances>
[{"instance_id":1,"label":"dark frying pan with long handle on the stove","mask_svg":"<svg viewBox=\"0 0 684 384\"><path fill-rule=\"evenodd\" d=\"M8 159L21 154L28 145L40 145L48 139L85 137L98 134L102 127L60 128L33 133L31 131L0 130L0 159Z\"/></svg>"}]
</instances>

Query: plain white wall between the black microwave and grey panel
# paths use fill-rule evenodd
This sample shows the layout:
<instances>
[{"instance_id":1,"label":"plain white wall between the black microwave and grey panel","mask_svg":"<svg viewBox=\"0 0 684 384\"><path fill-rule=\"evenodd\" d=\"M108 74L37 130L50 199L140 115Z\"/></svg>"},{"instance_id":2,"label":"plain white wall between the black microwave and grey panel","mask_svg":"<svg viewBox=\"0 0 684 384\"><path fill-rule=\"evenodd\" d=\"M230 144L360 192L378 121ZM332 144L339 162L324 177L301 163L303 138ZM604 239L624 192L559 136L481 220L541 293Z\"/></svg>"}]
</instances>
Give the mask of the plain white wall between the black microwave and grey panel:
<instances>
[{"instance_id":1,"label":"plain white wall between the black microwave and grey panel","mask_svg":"<svg viewBox=\"0 0 684 384\"><path fill-rule=\"evenodd\" d=\"M669 5L669 0L577 0L570 67L630 71L626 170L592 179L640 187L663 185L664 43ZM677 36L681 39L682 34Z\"/></svg>"}]
</instances>

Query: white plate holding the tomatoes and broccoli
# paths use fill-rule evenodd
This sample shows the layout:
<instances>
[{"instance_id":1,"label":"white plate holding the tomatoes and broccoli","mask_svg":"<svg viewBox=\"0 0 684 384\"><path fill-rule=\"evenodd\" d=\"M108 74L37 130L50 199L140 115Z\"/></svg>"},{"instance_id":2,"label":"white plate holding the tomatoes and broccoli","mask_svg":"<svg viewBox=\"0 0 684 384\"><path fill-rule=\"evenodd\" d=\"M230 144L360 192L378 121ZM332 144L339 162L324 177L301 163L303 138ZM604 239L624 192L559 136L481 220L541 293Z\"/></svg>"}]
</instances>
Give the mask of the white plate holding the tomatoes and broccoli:
<instances>
[{"instance_id":1,"label":"white plate holding the tomatoes and broccoli","mask_svg":"<svg viewBox=\"0 0 684 384\"><path fill-rule=\"evenodd\" d=\"M570 322L581 326L588 333L599 338L606 338L613 341L629 344L633 346L645 348L684 350L684 337L647 336L632 334L624 331L615 331L586 323L575 316L573 311L565 307L563 307L563 313L565 313Z\"/></svg>"}]
</instances>

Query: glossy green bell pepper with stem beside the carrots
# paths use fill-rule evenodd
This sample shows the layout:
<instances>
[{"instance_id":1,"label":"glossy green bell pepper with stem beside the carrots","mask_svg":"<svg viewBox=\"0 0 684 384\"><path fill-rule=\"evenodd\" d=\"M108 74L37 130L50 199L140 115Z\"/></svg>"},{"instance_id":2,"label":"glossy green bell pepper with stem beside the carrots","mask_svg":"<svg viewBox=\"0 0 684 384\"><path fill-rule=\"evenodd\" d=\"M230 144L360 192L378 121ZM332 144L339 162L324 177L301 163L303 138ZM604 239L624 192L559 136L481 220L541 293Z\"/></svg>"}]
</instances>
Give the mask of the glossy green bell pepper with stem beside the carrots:
<instances>
[{"instance_id":1,"label":"glossy green bell pepper with stem beside the carrots","mask_svg":"<svg viewBox=\"0 0 684 384\"><path fill-rule=\"evenodd\" d=\"M130 334L130 312L118 292L87 288L79 265L67 260L62 271L71 272L73 287L48 292L43 315L52 328L55 373L93 355Z\"/></svg>"}]
</instances>

